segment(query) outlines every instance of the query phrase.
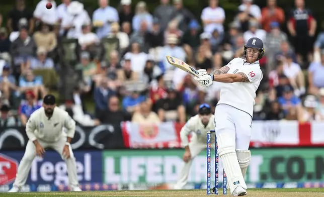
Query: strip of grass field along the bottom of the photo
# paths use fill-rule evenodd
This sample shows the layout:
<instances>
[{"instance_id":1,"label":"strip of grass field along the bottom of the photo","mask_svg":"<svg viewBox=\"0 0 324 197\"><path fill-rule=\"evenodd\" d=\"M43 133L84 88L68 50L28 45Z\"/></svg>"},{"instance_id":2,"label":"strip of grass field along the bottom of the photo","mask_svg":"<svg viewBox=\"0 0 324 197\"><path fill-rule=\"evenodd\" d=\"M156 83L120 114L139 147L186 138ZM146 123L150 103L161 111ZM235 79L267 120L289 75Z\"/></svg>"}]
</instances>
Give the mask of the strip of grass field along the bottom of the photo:
<instances>
[{"instance_id":1,"label":"strip of grass field along the bottom of the photo","mask_svg":"<svg viewBox=\"0 0 324 197\"><path fill-rule=\"evenodd\" d=\"M221 193L221 192L220 192ZM219 194L223 195L223 194ZM27 193L0 193L0 197L90 197L90 196L115 196L115 197L197 197L207 196L206 190L122 190L122 191L82 191L82 192L27 192ZM231 196L227 194L227 196ZM322 197L324 188L282 188L282 189L249 189L247 197Z\"/></svg>"}]
</instances>

